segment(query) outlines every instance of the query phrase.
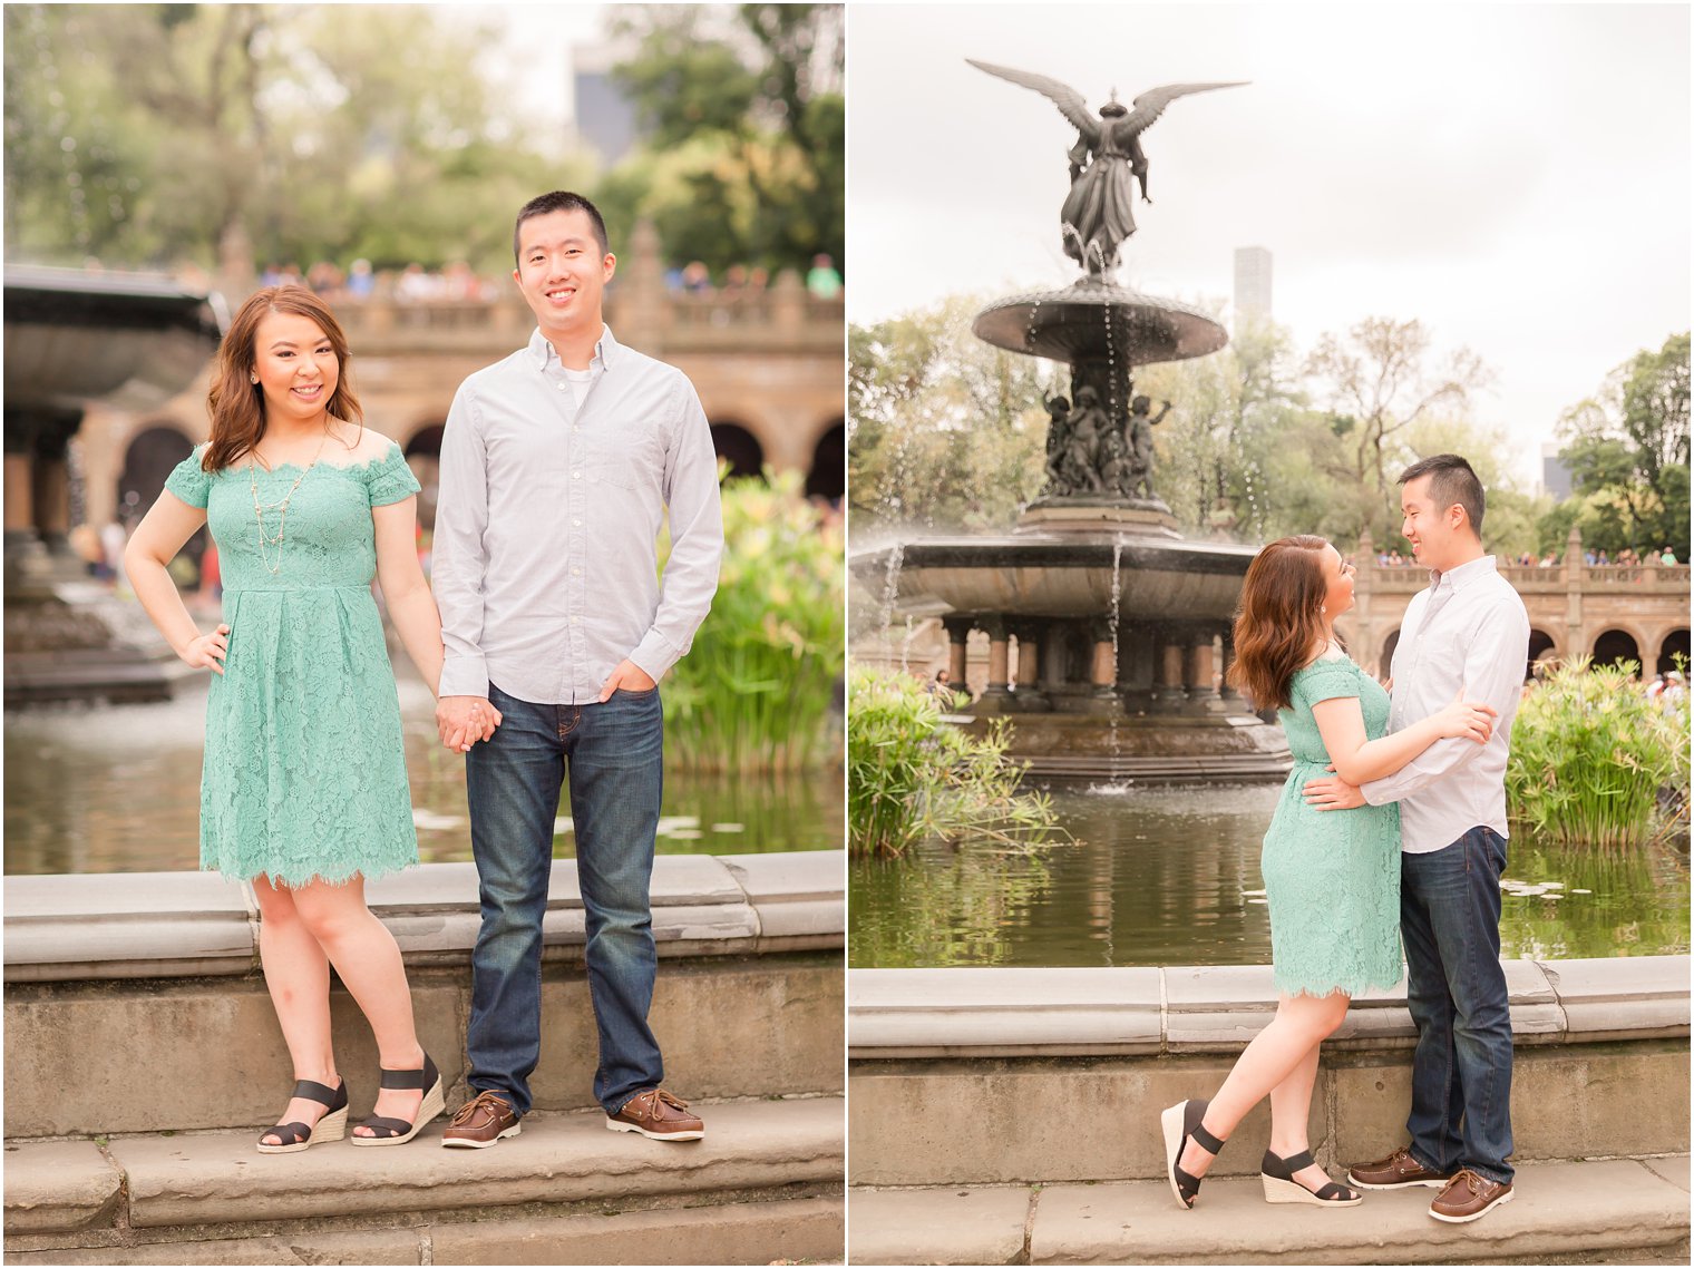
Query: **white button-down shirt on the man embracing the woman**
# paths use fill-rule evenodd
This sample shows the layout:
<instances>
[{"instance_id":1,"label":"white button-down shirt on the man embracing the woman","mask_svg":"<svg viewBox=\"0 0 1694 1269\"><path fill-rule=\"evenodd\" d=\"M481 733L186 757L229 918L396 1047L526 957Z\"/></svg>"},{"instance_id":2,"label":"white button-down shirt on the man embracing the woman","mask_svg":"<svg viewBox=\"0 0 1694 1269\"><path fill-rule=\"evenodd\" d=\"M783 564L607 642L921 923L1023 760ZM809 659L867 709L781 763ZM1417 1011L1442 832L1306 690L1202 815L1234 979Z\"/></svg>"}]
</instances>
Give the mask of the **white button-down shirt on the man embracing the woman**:
<instances>
[{"instance_id":1,"label":"white button-down shirt on the man embracing the woman","mask_svg":"<svg viewBox=\"0 0 1694 1269\"><path fill-rule=\"evenodd\" d=\"M1394 646L1387 729L1428 718L1464 693L1499 710L1487 744L1437 740L1392 776L1360 786L1374 806L1399 801L1408 854L1452 845L1479 825L1506 837L1506 754L1530 659L1530 615L1492 556L1447 573L1411 596Z\"/></svg>"}]
</instances>

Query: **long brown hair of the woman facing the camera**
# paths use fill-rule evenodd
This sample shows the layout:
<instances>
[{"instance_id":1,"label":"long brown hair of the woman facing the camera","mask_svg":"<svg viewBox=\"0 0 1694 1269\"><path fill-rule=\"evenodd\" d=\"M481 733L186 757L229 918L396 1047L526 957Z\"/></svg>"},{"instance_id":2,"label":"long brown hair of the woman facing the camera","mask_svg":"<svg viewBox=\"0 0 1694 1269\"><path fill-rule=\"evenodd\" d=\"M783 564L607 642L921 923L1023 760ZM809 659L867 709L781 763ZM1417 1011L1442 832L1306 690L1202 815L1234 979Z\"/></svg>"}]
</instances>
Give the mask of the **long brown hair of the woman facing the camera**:
<instances>
[{"instance_id":1,"label":"long brown hair of the woman facing the camera","mask_svg":"<svg viewBox=\"0 0 1694 1269\"><path fill-rule=\"evenodd\" d=\"M264 286L247 296L247 303L235 313L224 342L219 344L217 374L207 393L212 444L207 446L200 463L205 471L222 471L244 454L251 454L264 435L264 388L252 381L252 368L257 364L254 346L259 322L266 313L295 313L318 324L335 349L335 361L340 363L335 391L325 407L329 417L364 422L364 410L359 408L359 398L352 395L352 383L347 378L347 335L335 313L305 286Z\"/></svg>"}]
</instances>

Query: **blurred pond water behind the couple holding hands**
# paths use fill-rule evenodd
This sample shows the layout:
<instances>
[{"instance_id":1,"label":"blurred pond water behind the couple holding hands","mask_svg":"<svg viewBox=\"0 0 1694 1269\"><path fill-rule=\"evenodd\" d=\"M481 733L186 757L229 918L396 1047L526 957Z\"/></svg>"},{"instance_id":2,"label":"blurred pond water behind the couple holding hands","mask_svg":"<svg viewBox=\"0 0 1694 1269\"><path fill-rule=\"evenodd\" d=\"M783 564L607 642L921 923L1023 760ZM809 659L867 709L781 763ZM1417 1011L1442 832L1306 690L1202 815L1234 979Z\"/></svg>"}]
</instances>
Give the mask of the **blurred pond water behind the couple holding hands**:
<instances>
[{"instance_id":1,"label":"blurred pond water behind the couple holding hands","mask_svg":"<svg viewBox=\"0 0 1694 1269\"><path fill-rule=\"evenodd\" d=\"M464 759L435 739L434 703L401 679L418 854L471 857ZM161 705L8 713L5 871L142 873L200 862L205 688ZM842 845L839 769L789 779L666 773L661 854L827 851ZM574 852L566 798L554 854Z\"/></svg>"}]
</instances>

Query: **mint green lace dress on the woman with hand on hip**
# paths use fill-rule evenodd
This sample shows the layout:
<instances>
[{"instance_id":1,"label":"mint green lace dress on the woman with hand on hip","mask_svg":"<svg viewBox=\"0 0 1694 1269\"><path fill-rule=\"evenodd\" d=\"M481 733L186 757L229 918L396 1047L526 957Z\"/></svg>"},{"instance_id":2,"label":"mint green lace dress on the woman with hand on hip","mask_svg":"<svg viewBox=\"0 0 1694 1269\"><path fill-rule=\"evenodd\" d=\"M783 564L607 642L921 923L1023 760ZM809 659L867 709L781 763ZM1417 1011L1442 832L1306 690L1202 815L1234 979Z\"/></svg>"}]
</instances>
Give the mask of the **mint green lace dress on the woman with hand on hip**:
<instances>
[{"instance_id":1,"label":"mint green lace dress on the woman with hand on hip","mask_svg":"<svg viewBox=\"0 0 1694 1269\"><path fill-rule=\"evenodd\" d=\"M418 491L398 446L369 463L318 463L295 490L276 571L261 559L249 468L200 469L164 488L207 510L224 578L229 656L212 673L200 778L200 867L276 884L374 878L417 862L395 673L371 595L371 508ZM259 502L300 468L257 473ZM266 517L276 532L276 513Z\"/></svg>"}]
</instances>

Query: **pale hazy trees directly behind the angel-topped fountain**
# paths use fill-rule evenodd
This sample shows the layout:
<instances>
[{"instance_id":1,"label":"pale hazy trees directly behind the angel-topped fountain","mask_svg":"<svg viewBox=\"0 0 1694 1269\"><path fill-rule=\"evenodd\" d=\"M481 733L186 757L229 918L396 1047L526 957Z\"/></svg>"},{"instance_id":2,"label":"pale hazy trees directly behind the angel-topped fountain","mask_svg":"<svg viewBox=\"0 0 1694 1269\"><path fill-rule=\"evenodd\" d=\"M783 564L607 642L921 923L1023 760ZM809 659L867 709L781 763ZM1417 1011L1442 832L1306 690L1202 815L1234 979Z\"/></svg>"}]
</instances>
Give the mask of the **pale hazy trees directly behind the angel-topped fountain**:
<instances>
[{"instance_id":1,"label":"pale hazy trees directly behind the angel-topped fountain","mask_svg":"<svg viewBox=\"0 0 1694 1269\"><path fill-rule=\"evenodd\" d=\"M855 532L1006 530L1040 495L1044 398L1069 374L976 339L979 307L955 296L849 330ZM1504 434L1469 412L1486 369L1462 349L1437 363L1431 347L1418 322L1376 317L1301 357L1284 327L1260 322L1216 354L1142 368L1135 391L1176 407L1154 430L1159 495L1198 537L1316 532L1350 549L1369 530L1379 549L1404 549L1399 473L1457 449L1489 488L1489 549L1535 549L1545 507L1513 488Z\"/></svg>"}]
</instances>

